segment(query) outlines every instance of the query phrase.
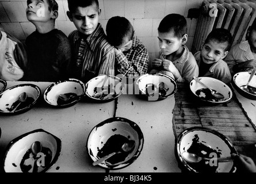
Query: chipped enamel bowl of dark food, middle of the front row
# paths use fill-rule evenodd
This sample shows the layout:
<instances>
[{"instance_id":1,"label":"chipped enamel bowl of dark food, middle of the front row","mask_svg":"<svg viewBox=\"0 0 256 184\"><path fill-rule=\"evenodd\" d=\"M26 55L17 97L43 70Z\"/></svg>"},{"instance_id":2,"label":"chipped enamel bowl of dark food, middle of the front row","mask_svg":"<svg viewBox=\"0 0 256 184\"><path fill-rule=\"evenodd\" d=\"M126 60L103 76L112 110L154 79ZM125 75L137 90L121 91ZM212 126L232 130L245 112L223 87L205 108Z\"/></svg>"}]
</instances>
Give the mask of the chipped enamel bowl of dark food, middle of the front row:
<instances>
[{"instance_id":1,"label":"chipped enamel bowl of dark food, middle of the front row","mask_svg":"<svg viewBox=\"0 0 256 184\"><path fill-rule=\"evenodd\" d=\"M135 141L135 147L128 152L119 152L128 141ZM135 122L114 117L102 121L91 130L87 139L87 152L93 162L112 152L119 152L98 164L102 168L116 170L132 164L140 155L143 143L143 133Z\"/></svg>"}]
</instances>

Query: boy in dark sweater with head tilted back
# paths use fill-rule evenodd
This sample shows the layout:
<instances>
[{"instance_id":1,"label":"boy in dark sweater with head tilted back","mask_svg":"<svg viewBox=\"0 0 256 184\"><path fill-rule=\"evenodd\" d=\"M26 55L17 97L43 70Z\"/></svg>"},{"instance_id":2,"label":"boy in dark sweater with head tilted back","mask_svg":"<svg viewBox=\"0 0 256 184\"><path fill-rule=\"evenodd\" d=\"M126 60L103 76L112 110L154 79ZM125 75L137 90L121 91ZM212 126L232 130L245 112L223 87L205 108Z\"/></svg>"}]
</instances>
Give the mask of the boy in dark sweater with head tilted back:
<instances>
[{"instance_id":1,"label":"boy in dark sweater with head tilted back","mask_svg":"<svg viewBox=\"0 0 256 184\"><path fill-rule=\"evenodd\" d=\"M26 17L36 31L26 39L29 71L23 81L55 82L67 76L71 47L67 36L55 29L58 4L55 0L28 0Z\"/></svg>"}]
</instances>

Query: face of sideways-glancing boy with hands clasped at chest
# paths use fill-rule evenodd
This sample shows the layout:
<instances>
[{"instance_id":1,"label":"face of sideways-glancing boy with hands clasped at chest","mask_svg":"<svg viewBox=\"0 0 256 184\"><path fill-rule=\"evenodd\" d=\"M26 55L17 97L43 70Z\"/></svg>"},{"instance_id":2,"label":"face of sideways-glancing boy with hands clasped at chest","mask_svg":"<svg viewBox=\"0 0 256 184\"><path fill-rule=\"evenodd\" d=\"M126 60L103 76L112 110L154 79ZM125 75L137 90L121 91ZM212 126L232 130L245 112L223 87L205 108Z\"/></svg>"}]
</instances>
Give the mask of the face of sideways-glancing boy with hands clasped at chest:
<instances>
[{"instance_id":1,"label":"face of sideways-glancing boy with hands clasped at chest","mask_svg":"<svg viewBox=\"0 0 256 184\"><path fill-rule=\"evenodd\" d=\"M161 33L158 32L159 47L163 55L170 55L178 51L182 44L182 38L174 36L173 32Z\"/></svg>"}]
</instances>

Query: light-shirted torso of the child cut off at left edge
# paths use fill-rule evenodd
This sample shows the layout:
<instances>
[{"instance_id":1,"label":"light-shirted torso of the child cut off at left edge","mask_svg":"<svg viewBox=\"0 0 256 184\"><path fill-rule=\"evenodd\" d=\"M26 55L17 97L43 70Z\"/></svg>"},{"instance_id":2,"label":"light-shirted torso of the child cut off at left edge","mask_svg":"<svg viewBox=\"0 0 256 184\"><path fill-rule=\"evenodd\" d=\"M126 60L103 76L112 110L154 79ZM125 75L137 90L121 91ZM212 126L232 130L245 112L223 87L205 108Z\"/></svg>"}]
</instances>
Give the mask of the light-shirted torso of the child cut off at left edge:
<instances>
[{"instance_id":1,"label":"light-shirted torso of the child cut off at left edge","mask_svg":"<svg viewBox=\"0 0 256 184\"><path fill-rule=\"evenodd\" d=\"M0 45L0 79L19 81L27 64L24 44L0 29Z\"/></svg>"}]
</instances>

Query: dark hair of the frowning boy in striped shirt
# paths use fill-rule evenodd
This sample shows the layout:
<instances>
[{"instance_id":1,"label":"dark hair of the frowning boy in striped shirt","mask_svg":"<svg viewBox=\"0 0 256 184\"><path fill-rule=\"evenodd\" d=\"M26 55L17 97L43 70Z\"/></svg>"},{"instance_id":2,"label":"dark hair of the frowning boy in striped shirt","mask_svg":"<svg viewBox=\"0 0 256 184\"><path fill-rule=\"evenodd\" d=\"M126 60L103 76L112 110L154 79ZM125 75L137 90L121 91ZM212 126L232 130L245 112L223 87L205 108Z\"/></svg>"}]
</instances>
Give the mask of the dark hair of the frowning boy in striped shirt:
<instances>
[{"instance_id":1,"label":"dark hair of the frowning boy in striped shirt","mask_svg":"<svg viewBox=\"0 0 256 184\"><path fill-rule=\"evenodd\" d=\"M77 7L87 7L91 5L96 5L97 9L99 9L99 3L98 0L67 0L68 2L68 9L71 13L74 13L74 11L77 9Z\"/></svg>"}]
</instances>

